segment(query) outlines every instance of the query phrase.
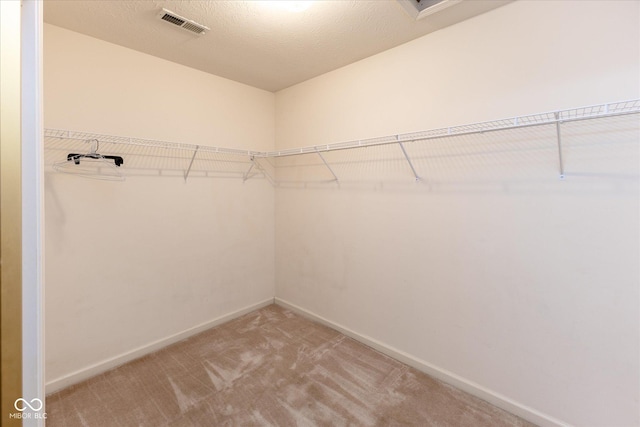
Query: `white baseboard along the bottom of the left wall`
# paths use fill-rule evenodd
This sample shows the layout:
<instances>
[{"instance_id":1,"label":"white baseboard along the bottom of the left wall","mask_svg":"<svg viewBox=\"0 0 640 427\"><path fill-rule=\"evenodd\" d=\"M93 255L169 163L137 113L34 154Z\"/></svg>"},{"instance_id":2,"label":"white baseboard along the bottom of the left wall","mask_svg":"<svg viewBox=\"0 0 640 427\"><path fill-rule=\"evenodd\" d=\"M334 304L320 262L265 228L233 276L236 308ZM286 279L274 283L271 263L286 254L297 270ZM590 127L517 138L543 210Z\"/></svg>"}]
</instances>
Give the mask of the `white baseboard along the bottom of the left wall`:
<instances>
[{"instance_id":1,"label":"white baseboard along the bottom of the left wall","mask_svg":"<svg viewBox=\"0 0 640 427\"><path fill-rule=\"evenodd\" d=\"M274 298L269 298L262 302L252 304L248 307L244 307L240 310L236 310L232 313L226 314L224 316L221 316L216 319L210 320L208 322L202 323L200 325L194 326L193 328L189 328L182 332L178 332L177 334L171 335L169 337L162 338L160 340L146 344L142 347L138 347L136 349L120 354L118 356L105 359L96 364L87 366L85 368L82 368L80 370L67 374L60 378L56 378L55 380L52 380L45 384L45 393L51 394L56 391L62 390L63 388L69 387L70 385L79 383L80 381L84 381L86 379L99 375L110 369L116 368L120 365L130 362L134 359L138 359L149 353L153 353L154 351L160 350L161 348L166 347L170 344L176 343L192 335L195 335L202 331L206 331L207 329L213 328L214 326L218 326L222 323L233 320L236 317L240 317L244 314L250 313L262 307L266 307L267 305L270 305L273 303L274 303Z\"/></svg>"}]
</instances>

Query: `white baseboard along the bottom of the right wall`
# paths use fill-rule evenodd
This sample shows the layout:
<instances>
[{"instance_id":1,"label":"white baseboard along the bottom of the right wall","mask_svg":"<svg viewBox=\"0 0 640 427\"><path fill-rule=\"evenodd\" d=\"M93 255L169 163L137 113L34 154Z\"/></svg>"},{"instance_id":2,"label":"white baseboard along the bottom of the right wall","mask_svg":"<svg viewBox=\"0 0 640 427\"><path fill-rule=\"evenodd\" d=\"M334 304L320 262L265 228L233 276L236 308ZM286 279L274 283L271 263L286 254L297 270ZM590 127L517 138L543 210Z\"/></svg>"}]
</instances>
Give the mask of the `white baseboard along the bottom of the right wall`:
<instances>
[{"instance_id":1,"label":"white baseboard along the bottom of the right wall","mask_svg":"<svg viewBox=\"0 0 640 427\"><path fill-rule=\"evenodd\" d=\"M325 319L324 317L318 316L315 313L312 313L302 307L299 307L295 304L287 302L282 298L275 298L275 303L285 307L295 313L298 313L302 316L308 317L312 320L315 320L319 323L322 323L325 326L328 326L332 329L335 329L348 337L355 339L377 351L380 353L386 354L389 357L392 357L402 363L405 363L413 368L416 368L428 375L431 375L434 378L441 380L447 384L450 384L460 390L463 390L469 394L472 394L482 400L485 400L491 403L498 408L504 409L514 415L517 415L527 421L530 421L539 426L548 426L548 427L558 427L558 426L569 426L569 424L562 422L558 419L555 419L549 415L546 415L540 411L537 411L533 408L530 408L526 405L518 403L512 399L509 399L506 396L503 396L499 393L496 393L492 390L489 390L486 387L481 386L480 384L476 384L473 381L469 381L466 378L463 378L459 375L454 374L453 372L449 372L446 369L439 368L431 363L425 362L424 360L418 359L417 357L411 356L403 351L397 350L393 347L390 347L386 344L381 343L373 338L370 338L366 335L359 334L358 332L352 331L351 329L345 328L342 325L334 323L330 320Z\"/></svg>"}]
</instances>

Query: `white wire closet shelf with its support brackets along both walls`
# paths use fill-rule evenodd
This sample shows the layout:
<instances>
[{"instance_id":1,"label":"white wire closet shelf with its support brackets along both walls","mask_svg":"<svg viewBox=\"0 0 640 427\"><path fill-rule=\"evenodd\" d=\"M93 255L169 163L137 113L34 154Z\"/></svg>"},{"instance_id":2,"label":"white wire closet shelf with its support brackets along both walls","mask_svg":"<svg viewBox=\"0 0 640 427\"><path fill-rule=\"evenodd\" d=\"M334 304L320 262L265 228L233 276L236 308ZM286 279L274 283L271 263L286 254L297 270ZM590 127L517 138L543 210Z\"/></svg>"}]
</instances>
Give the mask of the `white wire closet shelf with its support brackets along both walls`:
<instances>
[{"instance_id":1,"label":"white wire closet shelf with its support brackets along both walls","mask_svg":"<svg viewBox=\"0 0 640 427\"><path fill-rule=\"evenodd\" d=\"M321 159L322 164L331 173L334 180L337 181L338 176L322 153L396 144L400 147L401 153L415 179L420 180L412 159L405 149L405 144L537 126L555 126L559 172L560 177L563 178L562 124L638 113L640 113L640 99L635 99L420 132L275 151L231 149L61 129L45 129L44 136L45 152L49 151L54 155L57 154L58 159L60 159L60 155L65 150L78 150L83 143L97 140L100 142L101 147L104 147L105 152L108 150L110 154L127 156L129 160L127 163L136 170L155 170L156 174L159 175L180 175L185 180L190 175L226 175L241 177L243 181L255 176L261 176L271 184L278 185L275 179L275 165L271 159L277 160L282 157L314 154Z\"/></svg>"}]
</instances>

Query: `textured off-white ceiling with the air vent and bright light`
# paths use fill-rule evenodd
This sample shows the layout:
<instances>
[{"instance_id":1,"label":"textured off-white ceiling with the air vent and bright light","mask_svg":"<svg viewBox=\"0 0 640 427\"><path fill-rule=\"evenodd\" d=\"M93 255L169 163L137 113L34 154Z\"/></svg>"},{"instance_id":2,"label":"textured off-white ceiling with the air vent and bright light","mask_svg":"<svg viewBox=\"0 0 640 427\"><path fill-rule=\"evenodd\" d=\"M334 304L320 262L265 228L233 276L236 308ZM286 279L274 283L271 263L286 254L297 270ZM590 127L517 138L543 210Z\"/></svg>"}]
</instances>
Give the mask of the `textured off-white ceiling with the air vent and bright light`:
<instances>
[{"instance_id":1,"label":"textured off-white ceiling with the air vent and bright light","mask_svg":"<svg viewBox=\"0 0 640 427\"><path fill-rule=\"evenodd\" d=\"M47 0L44 20L241 83L278 91L508 3L466 0L416 21L396 0ZM157 18L166 8L211 29Z\"/></svg>"}]
</instances>

